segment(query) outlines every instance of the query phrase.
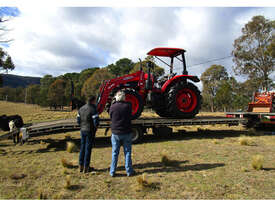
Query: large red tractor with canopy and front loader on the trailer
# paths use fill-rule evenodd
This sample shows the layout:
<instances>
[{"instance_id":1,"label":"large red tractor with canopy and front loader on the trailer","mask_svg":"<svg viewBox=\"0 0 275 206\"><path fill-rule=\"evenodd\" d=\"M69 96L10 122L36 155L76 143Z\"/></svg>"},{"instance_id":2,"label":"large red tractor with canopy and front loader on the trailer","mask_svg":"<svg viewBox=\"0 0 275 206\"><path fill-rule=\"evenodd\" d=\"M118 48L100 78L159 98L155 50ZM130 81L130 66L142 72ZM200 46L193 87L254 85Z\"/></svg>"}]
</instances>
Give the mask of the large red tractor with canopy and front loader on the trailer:
<instances>
[{"instance_id":1,"label":"large red tractor with canopy and front loader on the trailer","mask_svg":"<svg viewBox=\"0 0 275 206\"><path fill-rule=\"evenodd\" d=\"M197 76L188 75L184 53L185 50L179 48L155 48L147 53L169 66L170 74L162 79L155 78L154 63L148 61L148 73L143 71L140 63L139 71L104 81L97 98L98 113L104 109L108 111L115 93L123 90L126 101L132 104L132 119L141 115L144 106L152 108L161 117L193 118L200 110L201 95L189 80L200 80ZM159 57L168 57L170 64ZM181 75L173 73L175 59L182 63Z\"/></svg>"}]
</instances>

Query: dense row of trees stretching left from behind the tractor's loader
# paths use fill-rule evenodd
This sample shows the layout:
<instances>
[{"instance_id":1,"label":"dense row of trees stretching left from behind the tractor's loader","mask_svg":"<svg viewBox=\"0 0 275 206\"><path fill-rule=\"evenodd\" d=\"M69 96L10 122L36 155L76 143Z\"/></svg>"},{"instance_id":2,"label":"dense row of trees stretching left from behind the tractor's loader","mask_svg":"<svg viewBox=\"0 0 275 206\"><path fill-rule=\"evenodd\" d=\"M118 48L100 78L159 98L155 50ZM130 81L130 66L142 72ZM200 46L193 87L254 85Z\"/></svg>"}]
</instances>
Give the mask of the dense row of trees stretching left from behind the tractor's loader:
<instances>
[{"instance_id":1,"label":"dense row of trees stretching left from behind the tractor's loader","mask_svg":"<svg viewBox=\"0 0 275 206\"><path fill-rule=\"evenodd\" d=\"M88 96L98 93L103 80L133 73L138 70L138 65L128 58L122 58L104 68L87 68L80 73L66 73L57 77L45 75L40 85L29 85L26 88L0 87L0 100L44 107L69 106L72 98L85 101ZM164 74L164 69L158 66L156 71L158 75Z\"/></svg>"}]
</instances>

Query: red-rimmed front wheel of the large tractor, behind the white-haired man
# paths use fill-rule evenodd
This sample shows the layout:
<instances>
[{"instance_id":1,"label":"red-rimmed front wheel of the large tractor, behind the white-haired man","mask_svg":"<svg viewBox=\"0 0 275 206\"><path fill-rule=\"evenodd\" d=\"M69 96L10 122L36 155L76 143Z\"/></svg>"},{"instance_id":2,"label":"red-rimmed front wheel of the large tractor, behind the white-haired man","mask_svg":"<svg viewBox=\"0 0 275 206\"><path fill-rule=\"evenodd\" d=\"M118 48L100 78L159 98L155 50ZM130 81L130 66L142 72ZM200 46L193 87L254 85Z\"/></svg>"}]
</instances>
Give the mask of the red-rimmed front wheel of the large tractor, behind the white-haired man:
<instances>
[{"instance_id":1,"label":"red-rimmed front wheel of the large tractor, behind the white-haired man","mask_svg":"<svg viewBox=\"0 0 275 206\"><path fill-rule=\"evenodd\" d=\"M141 115L144 107L141 96L133 90L124 90L125 101L130 102L132 105L132 119L137 119Z\"/></svg>"}]
</instances>

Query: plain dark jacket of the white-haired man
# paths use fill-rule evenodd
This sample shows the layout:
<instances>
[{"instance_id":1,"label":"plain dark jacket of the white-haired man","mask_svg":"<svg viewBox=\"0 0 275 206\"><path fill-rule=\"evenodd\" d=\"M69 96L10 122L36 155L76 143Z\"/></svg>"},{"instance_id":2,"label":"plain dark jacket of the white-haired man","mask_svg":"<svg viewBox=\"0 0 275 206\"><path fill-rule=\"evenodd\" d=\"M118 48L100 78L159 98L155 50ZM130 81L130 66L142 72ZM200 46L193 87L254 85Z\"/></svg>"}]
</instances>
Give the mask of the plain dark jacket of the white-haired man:
<instances>
[{"instance_id":1,"label":"plain dark jacket of the white-haired man","mask_svg":"<svg viewBox=\"0 0 275 206\"><path fill-rule=\"evenodd\" d=\"M131 129L132 106L128 102L115 102L110 108L111 129L116 135L129 134Z\"/></svg>"}]
</instances>

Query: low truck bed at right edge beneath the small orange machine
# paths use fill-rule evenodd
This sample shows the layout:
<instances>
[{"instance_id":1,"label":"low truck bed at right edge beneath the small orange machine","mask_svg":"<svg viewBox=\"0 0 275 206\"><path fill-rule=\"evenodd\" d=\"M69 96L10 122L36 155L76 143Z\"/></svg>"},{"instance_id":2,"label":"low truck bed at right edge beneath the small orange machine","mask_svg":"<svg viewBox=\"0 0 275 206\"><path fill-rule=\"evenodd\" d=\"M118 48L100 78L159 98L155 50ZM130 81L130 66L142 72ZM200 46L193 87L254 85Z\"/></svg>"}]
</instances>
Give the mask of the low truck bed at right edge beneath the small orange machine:
<instances>
[{"instance_id":1,"label":"low truck bed at right edge beneath the small orange machine","mask_svg":"<svg viewBox=\"0 0 275 206\"><path fill-rule=\"evenodd\" d=\"M275 130L275 113L266 112L226 112L228 118L246 119L247 128L274 128Z\"/></svg>"}]
</instances>

